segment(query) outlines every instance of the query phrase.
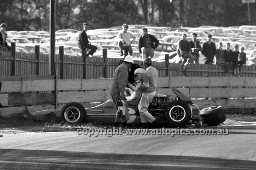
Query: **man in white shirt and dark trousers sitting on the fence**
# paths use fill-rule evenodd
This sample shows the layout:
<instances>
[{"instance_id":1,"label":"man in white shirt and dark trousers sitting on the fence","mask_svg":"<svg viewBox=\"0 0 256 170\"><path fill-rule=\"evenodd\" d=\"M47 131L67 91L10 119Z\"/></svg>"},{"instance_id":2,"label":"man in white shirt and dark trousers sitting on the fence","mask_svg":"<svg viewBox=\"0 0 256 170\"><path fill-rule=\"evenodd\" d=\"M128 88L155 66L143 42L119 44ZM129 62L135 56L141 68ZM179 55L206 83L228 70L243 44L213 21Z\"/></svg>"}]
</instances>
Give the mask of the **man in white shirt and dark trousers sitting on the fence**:
<instances>
[{"instance_id":1,"label":"man in white shirt and dark trousers sitting on the fence","mask_svg":"<svg viewBox=\"0 0 256 170\"><path fill-rule=\"evenodd\" d=\"M127 32L129 26L124 23L122 25L123 31L119 32L117 35L117 38L119 39L119 50L121 52L120 56L123 56L123 50L124 50L124 57L128 55L133 55L133 48L131 46L132 42L136 39L135 35L133 35L130 32Z\"/></svg>"}]
</instances>

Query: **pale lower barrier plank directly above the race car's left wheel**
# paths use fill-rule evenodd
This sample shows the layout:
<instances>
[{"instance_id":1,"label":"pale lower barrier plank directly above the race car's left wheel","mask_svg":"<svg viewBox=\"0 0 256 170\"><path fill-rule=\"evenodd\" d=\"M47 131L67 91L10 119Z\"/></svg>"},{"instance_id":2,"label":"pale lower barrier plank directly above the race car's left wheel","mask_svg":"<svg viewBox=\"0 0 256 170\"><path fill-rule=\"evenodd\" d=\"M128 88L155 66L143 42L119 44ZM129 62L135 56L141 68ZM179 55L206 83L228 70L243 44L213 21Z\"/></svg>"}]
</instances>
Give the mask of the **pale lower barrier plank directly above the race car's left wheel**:
<instances>
[{"instance_id":1,"label":"pale lower barrier plank directly above the race car's left wheel","mask_svg":"<svg viewBox=\"0 0 256 170\"><path fill-rule=\"evenodd\" d=\"M105 102L105 91L58 92L58 103Z\"/></svg>"}]
</instances>

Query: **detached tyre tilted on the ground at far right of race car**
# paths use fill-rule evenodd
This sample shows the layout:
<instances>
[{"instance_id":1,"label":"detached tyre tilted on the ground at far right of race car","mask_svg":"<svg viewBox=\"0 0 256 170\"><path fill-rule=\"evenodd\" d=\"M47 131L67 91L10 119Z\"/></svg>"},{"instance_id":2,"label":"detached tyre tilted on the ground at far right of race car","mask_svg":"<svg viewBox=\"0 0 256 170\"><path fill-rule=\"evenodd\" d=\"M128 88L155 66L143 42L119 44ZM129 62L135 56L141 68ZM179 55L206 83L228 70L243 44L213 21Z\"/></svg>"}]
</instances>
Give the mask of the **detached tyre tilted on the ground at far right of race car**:
<instances>
[{"instance_id":1,"label":"detached tyre tilted on the ground at far right of race car","mask_svg":"<svg viewBox=\"0 0 256 170\"><path fill-rule=\"evenodd\" d=\"M222 106L210 106L200 110L202 124L217 126L226 120L226 113Z\"/></svg>"}]
</instances>

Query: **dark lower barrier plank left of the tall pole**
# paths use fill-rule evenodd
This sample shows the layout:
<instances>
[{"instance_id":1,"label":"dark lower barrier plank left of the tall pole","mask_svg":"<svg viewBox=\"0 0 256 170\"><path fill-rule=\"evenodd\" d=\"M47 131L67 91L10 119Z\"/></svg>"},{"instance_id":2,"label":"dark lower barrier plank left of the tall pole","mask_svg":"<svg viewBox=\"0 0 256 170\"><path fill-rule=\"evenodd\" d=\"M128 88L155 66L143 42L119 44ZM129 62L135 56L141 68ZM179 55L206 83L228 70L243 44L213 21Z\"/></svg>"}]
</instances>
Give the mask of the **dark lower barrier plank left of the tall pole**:
<instances>
[{"instance_id":1,"label":"dark lower barrier plank left of the tall pole","mask_svg":"<svg viewBox=\"0 0 256 170\"><path fill-rule=\"evenodd\" d=\"M54 93L9 93L8 106L54 104Z\"/></svg>"}]
</instances>

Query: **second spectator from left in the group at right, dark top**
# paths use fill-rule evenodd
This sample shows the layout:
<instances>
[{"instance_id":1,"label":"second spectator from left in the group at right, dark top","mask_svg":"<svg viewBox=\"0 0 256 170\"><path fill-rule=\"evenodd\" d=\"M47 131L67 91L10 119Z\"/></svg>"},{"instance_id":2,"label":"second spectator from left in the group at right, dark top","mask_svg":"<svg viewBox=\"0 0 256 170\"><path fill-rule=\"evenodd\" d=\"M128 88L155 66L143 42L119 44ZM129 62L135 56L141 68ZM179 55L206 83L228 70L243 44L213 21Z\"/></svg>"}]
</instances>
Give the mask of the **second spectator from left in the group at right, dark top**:
<instances>
[{"instance_id":1,"label":"second spectator from left in the group at right, dark top","mask_svg":"<svg viewBox=\"0 0 256 170\"><path fill-rule=\"evenodd\" d=\"M199 64L199 52L202 50L200 41L197 40L197 33L192 34L193 40L189 41L191 54L194 56L195 64Z\"/></svg>"}]
</instances>

